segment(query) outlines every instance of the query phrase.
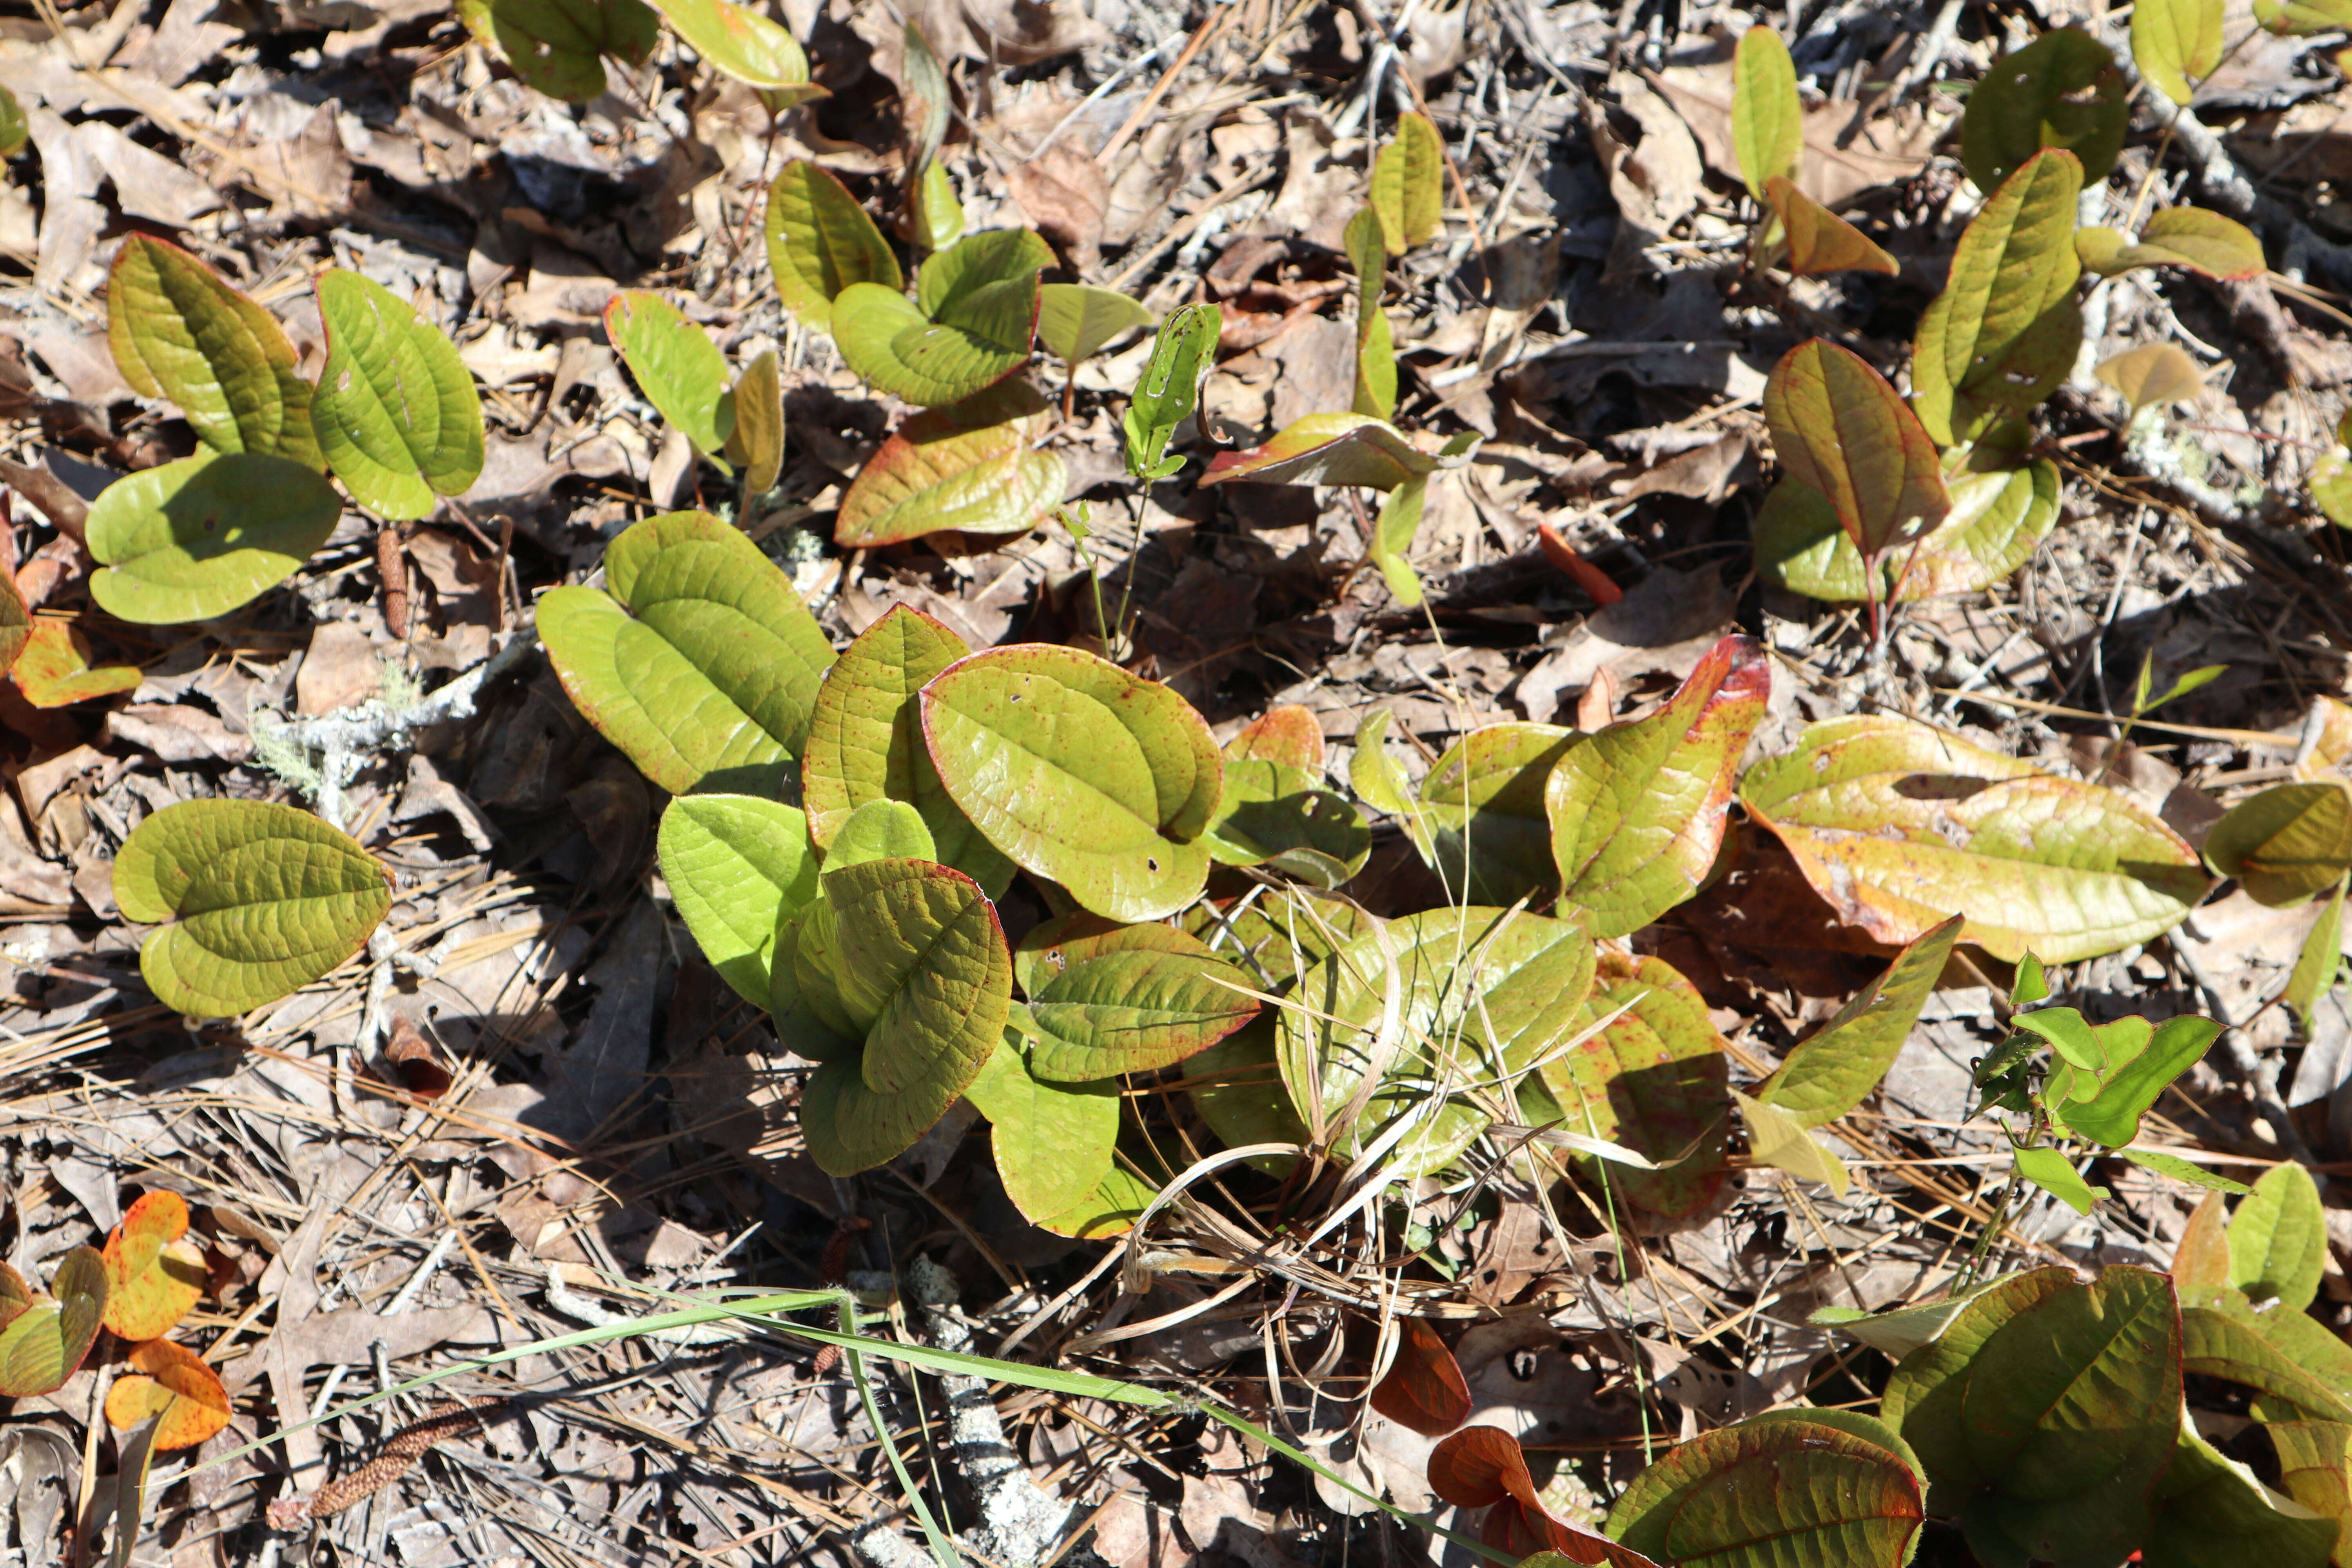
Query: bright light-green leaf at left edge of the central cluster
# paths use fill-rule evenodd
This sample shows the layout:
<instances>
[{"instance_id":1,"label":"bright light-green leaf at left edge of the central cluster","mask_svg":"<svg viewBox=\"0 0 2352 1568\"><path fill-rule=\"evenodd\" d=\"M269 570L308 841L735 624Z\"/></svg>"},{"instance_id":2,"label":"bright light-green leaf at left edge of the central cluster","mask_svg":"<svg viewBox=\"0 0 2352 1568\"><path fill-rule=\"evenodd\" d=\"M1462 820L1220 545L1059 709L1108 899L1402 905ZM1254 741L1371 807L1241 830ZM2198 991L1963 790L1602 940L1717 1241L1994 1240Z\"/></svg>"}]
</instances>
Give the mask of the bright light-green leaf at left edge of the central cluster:
<instances>
[{"instance_id":1,"label":"bright light-green leaf at left edge of the central cluster","mask_svg":"<svg viewBox=\"0 0 2352 1568\"><path fill-rule=\"evenodd\" d=\"M661 879L720 978L771 994L776 924L816 898L809 818L757 795L682 795L661 813Z\"/></svg>"}]
</instances>

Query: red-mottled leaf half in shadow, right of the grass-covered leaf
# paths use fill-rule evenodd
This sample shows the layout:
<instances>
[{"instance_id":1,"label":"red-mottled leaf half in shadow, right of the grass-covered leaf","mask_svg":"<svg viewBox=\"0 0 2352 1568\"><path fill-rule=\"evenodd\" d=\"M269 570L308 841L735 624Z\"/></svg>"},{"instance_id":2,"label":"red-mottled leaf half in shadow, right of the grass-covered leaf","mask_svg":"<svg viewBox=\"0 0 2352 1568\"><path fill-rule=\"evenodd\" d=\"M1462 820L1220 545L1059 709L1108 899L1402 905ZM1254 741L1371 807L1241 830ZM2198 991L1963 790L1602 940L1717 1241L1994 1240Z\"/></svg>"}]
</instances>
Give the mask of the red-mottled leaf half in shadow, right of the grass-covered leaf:
<instances>
[{"instance_id":1,"label":"red-mottled leaf half in shadow, right of the grass-covered leaf","mask_svg":"<svg viewBox=\"0 0 2352 1568\"><path fill-rule=\"evenodd\" d=\"M1731 1058L1698 990L1663 959L1604 952L1573 1030L1590 1030L1628 1004L1599 1034L1545 1063L1543 1084L1559 1103L1564 1131L1672 1161L1665 1171L1609 1166L1618 1199L1663 1218L1693 1215L1729 1178ZM1590 1157L1578 1161L1588 1173L1597 1166Z\"/></svg>"}]
</instances>

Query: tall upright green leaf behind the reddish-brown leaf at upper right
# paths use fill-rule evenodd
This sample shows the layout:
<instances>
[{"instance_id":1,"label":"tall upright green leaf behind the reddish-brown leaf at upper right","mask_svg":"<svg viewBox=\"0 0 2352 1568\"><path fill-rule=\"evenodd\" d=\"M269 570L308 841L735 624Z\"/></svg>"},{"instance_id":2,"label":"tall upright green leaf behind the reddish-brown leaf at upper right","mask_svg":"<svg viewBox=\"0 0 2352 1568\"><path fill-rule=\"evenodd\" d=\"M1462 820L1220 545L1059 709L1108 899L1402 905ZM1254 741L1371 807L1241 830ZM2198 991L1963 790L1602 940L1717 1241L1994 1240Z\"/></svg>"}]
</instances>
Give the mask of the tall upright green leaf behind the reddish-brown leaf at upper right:
<instances>
[{"instance_id":1,"label":"tall upright green leaf behind the reddish-brown leaf at upper right","mask_svg":"<svg viewBox=\"0 0 2352 1568\"><path fill-rule=\"evenodd\" d=\"M1985 186L1992 197L1962 230L1952 277L1919 317L1912 343L1912 407L1940 444L1976 440L2023 414L2074 369L2082 181L2084 165L2051 150Z\"/></svg>"}]
</instances>

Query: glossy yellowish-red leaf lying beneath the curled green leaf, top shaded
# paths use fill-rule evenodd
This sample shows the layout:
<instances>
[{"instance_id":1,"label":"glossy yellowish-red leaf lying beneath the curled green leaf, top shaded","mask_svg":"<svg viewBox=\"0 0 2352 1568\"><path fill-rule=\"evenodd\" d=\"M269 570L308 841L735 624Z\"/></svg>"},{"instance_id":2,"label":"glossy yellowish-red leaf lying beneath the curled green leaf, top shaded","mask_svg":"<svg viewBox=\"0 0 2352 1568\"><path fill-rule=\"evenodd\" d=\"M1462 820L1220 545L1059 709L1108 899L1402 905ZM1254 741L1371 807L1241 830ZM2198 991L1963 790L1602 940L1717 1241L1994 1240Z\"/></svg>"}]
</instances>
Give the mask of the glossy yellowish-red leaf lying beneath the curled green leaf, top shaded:
<instances>
[{"instance_id":1,"label":"glossy yellowish-red leaf lying beneath the curled green leaf, top shaded","mask_svg":"<svg viewBox=\"0 0 2352 1568\"><path fill-rule=\"evenodd\" d=\"M1007 381L971 402L995 418L974 428L967 404L929 409L866 458L833 543L866 550L943 531L1028 534L1061 505L1070 480L1061 456L1040 449L1054 423L1044 397Z\"/></svg>"}]
</instances>

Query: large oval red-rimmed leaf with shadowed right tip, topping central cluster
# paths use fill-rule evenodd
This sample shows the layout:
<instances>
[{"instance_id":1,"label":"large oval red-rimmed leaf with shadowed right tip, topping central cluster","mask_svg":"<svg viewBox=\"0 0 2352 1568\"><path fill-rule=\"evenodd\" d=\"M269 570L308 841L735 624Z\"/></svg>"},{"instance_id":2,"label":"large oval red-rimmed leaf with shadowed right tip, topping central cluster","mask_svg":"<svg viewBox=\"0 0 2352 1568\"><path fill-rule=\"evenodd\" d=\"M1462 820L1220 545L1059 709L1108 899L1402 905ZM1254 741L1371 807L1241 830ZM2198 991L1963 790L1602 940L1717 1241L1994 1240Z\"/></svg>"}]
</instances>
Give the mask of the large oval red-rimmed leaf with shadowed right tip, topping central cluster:
<instances>
[{"instance_id":1,"label":"large oval red-rimmed leaf with shadowed right tip, topping central cluster","mask_svg":"<svg viewBox=\"0 0 2352 1568\"><path fill-rule=\"evenodd\" d=\"M1160 919L1200 896L1223 769L1171 689L1080 649L990 649L922 689L922 729L964 816L1080 905Z\"/></svg>"}]
</instances>

